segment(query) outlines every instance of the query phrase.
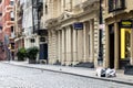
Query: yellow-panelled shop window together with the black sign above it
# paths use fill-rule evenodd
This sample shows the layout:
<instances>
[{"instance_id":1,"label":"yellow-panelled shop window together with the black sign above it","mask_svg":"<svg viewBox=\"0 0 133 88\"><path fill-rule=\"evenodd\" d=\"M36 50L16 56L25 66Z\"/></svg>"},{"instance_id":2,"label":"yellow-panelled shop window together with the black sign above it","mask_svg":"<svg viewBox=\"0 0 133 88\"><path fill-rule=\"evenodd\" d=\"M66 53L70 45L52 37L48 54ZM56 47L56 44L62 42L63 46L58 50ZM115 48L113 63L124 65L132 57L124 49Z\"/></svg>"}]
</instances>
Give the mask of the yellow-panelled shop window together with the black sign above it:
<instances>
[{"instance_id":1,"label":"yellow-panelled shop window together with the black sign above it","mask_svg":"<svg viewBox=\"0 0 133 88\"><path fill-rule=\"evenodd\" d=\"M122 20L120 25L121 32L121 57L120 68L124 68L130 64L131 58L131 20Z\"/></svg>"}]
</instances>

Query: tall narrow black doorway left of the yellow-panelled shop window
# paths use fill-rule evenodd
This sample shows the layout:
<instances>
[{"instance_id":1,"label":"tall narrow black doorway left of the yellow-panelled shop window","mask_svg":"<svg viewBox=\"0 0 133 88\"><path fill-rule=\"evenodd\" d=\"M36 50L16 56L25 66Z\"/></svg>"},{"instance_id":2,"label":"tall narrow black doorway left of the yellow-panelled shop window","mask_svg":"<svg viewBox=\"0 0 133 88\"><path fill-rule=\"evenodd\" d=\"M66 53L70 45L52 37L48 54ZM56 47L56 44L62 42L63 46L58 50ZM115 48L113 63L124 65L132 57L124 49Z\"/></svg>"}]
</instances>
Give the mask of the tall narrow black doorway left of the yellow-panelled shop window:
<instances>
[{"instance_id":1,"label":"tall narrow black doorway left of the yellow-panelled shop window","mask_svg":"<svg viewBox=\"0 0 133 88\"><path fill-rule=\"evenodd\" d=\"M114 24L109 25L110 68L114 68Z\"/></svg>"}]
</instances>

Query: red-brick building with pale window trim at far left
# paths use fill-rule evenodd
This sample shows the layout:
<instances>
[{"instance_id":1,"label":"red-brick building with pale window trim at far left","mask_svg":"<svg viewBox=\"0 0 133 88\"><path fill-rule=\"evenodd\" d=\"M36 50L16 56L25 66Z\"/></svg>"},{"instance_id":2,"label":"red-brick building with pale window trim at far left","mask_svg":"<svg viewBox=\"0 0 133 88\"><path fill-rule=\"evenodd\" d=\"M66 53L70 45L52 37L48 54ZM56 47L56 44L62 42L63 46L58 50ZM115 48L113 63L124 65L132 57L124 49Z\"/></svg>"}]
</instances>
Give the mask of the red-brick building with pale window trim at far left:
<instances>
[{"instance_id":1,"label":"red-brick building with pale window trim at far left","mask_svg":"<svg viewBox=\"0 0 133 88\"><path fill-rule=\"evenodd\" d=\"M2 0L2 34L4 45L3 59L13 58L14 56L14 15L13 15L13 0Z\"/></svg>"}]
</instances>

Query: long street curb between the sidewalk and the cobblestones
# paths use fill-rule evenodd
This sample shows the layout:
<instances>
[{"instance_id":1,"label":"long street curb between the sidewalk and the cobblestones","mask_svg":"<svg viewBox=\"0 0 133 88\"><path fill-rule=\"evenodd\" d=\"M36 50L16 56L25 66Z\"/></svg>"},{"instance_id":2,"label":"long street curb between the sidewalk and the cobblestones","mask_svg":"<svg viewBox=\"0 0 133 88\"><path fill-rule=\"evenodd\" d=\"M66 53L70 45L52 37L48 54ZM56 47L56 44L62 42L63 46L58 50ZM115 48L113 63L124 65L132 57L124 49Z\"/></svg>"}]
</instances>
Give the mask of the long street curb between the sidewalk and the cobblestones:
<instances>
[{"instance_id":1,"label":"long street curb between the sidewalk and the cobblestones","mask_svg":"<svg viewBox=\"0 0 133 88\"><path fill-rule=\"evenodd\" d=\"M119 84L125 84L125 85L131 85L131 86L133 86L133 82L121 81L121 80L113 80L113 79L109 79L109 78L100 78L100 77L93 77L93 76L84 76L84 75L79 75L79 74L72 74L72 73L61 72L61 70L53 70L53 69L30 67L30 66L23 66L23 65L14 65L14 64L10 64L10 63L3 63L3 64L9 64L9 65L19 66L19 67L25 67L25 68L48 70L48 72L53 72L53 73L68 74L68 75L73 75L73 76L80 76L80 77L85 77L85 78L92 78L92 79L99 79L99 80L105 80L105 81L112 81L112 82L119 82Z\"/></svg>"}]
</instances>

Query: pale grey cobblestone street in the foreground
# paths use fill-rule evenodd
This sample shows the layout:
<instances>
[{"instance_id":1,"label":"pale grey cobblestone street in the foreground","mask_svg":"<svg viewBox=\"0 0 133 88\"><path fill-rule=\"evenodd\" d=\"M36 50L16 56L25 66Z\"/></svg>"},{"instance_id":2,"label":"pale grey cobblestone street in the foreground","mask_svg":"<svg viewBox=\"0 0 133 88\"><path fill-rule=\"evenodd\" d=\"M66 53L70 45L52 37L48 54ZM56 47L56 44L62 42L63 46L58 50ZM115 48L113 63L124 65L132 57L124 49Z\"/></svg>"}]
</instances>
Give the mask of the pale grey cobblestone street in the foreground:
<instances>
[{"instance_id":1,"label":"pale grey cobblestone street in the foreground","mask_svg":"<svg viewBox=\"0 0 133 88\"><path fill-rule=\"evenodd\" d=\"M132 88L132 86L0 64L0 88Z\"/></svg>"}]
</instances>

